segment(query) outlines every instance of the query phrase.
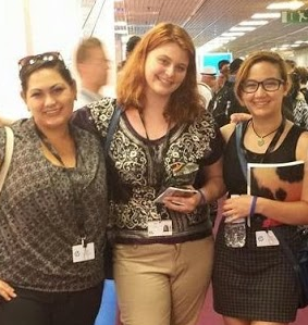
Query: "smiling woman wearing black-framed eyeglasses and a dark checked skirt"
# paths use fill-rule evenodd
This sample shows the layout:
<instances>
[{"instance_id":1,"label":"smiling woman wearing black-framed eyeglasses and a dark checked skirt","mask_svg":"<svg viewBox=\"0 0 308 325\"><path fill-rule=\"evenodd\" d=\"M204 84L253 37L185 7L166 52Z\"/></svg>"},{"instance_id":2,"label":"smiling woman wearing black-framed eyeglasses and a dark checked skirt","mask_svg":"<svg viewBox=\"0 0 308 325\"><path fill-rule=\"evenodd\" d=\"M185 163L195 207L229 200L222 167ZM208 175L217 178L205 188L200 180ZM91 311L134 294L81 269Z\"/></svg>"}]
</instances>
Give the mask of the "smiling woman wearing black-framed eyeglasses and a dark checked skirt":
<instances>
[{"instance_id":1,"label":"smiling woman wearing black-framed eyeglasses and a dark checked skirt","mask_svg":"<svg viewBox=\"0 0 308 325\"><path fill-rule=\"evenodd\" d=\"M226 325L287 324L296 317L298 288L278 237L296 250L296 225L308 224L307 167L297 164L307 160L308 133L282 114L288 88L279 54L251 54L235 84L251 118L222 128L229 199L215 241L213 295L214 309ZM247 162L259 165L247 171ZM264 168L267 163L287 162L293 162L294 173L287 172L289 166Z\"/></svg>"}]
</instances>

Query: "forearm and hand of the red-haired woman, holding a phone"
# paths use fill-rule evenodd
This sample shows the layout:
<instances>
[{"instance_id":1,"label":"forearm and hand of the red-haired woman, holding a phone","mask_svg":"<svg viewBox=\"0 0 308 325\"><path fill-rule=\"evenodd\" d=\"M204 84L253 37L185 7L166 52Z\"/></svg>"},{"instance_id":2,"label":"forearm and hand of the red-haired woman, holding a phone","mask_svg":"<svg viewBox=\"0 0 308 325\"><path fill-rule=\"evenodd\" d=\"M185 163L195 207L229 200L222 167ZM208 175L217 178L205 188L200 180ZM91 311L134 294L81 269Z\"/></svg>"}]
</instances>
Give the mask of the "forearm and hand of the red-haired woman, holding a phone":
<instances>
[{"instance_id":1,"label":"forearm and hand of the red-haired woman, holding a phone","mask_svg":"<svg viewBox=\"0 0 308 325\"><path fill-rule=\"evenodd\" d=\"M221 198L225 192L225 186L222 177L222 158L213 164L205 167L205 185L200 188L206 202L212 202ZM193 187L190 187L193 188ZM165 197L163 203L168 209L182 213L193 212L202 201L200 192L189 197Z\"/></svg>"}]
</instances>

